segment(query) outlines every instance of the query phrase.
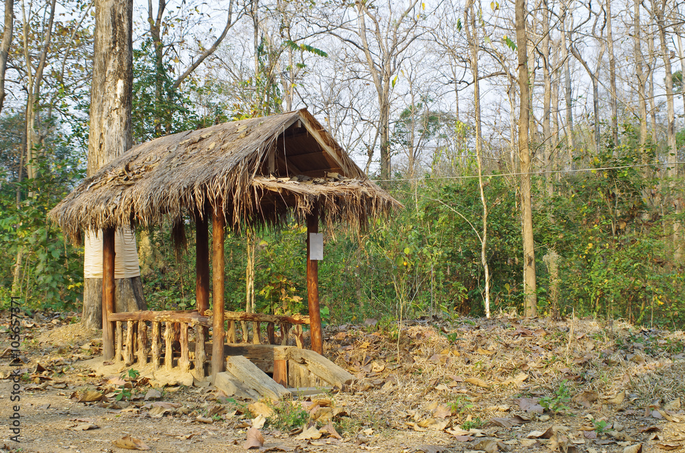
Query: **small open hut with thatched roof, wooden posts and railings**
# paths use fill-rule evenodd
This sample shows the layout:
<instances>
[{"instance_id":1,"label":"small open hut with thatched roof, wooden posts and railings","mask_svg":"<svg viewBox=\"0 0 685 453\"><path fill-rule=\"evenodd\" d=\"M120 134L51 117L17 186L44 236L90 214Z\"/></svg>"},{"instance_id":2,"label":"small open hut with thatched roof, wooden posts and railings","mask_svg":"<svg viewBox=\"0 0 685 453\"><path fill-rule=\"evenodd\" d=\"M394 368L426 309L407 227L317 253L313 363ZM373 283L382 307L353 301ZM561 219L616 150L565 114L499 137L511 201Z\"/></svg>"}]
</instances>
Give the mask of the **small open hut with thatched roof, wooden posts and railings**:
<instances>
[{"instance_id":1,"label":"small open hut with thatched roof, wooden posts and railings","mask_svg":"<svg viewBox=\"0 0 685 453\"><path fill-rule=\"evenodd\" d=\"M224 366L225 320L229 321L228 337L232 341L236 341L234 322L253 322L254 342L260 338L260 323L266 322L271 343L275 341L275 324L280 326L281 339L285 341L290 324L308 323L312 350L321 353L323 349L316 261L310 259L310 253L308 317L224 313L225 227L241 230L279 225L290 216L306 222L311 237L311 233L318 233L320 222L329 228L342 223L358 229L364 227L367 219L387 214L398 206L395 199L369 181L332 135L302 109L186 131L134 146L84 180L49 216L74 242L81 242L84 231L103 231L105 359L134 360L137 342L138 360L147 361L147 321L152 322L151 359L157 366L160 326L164 323L167 351L164 361L171 367L173 357L169 348L173 324L176 324L181 338L178 363L187 369L190 367L190 325L195 327L195 368L203 373L200 369L206 355L204 341L199 340L213 326L212 373L216 373ZM158 224L165 216L176 225L175 229L182 227L188 218L196 222L197 312L113 313L115 229L124 225ZM210 292L209 219L213 224L212 319L206 316ZM124 322L128 327L125 344L121 331ZM243 341L247 339L245 332L242 337Z\"/></svg>"}]
</instances>

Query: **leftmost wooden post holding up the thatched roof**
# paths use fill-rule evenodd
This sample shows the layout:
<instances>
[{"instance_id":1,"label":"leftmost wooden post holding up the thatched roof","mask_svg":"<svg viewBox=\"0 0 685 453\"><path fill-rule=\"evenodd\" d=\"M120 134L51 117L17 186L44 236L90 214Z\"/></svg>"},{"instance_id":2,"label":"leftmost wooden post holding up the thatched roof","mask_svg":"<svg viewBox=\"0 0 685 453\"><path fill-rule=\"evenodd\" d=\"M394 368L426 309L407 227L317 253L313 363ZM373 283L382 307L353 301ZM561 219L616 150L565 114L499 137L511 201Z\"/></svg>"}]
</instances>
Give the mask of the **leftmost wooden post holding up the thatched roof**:
<instances>
[{"instance_id":1,"label":"leftmost wooden post holding up the thatched roof","mask_svg":"<svg viewBox=\"0 0 685 453\"><path fill-rule=\"evenodd\" d=\"M114 359L114 229L102 231L102 352L105 361Z\"/></svg>"}]
</instances>

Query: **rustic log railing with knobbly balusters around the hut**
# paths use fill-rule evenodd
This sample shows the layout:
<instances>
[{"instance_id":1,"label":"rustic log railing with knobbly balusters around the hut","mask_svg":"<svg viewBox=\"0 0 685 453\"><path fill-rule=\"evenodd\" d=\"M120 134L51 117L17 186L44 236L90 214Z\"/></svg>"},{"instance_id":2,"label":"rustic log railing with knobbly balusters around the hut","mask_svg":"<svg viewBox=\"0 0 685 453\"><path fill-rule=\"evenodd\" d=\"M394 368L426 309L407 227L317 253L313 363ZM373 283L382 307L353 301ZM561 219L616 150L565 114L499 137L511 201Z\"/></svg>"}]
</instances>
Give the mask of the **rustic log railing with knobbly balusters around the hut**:
<instances>
[{"instance_id":1,"label":"rustic log railing with knobbly balusters around the hut","mask_svg":"<svg viewBox=\"0 0 685 453\"><path fill-rule=\"evenodd\" d=\"M209 329L212 326L210 314L206 312L206 315L200 315L197 311L111 313L109 320L116 324L113 345L114 361L123 361L129 366L136 362L145 365L149 359L155 370L163 361L164 368L171 371L174 367L174 359L177 358L176 364L180 371L188 372L192 365L198 377L203 377L206 375L204 364L208 361L205 341L209 337ZM302 347L301 324L310 322L308 316L299 314L284 316L237 311L225 312L224 320L228 323L226 335L228 344L238 343L238 331L240 331L241 343L285 346L292 326L296 326L293 333L295 333L295 341L299 348ZM262 330L263 324L266 324L264 330ZM276 326L279 328L278 338ZM262 335L263 331L266 335ZM175 357L175 352L177 352L177 357Z\"/></svg>"}]
</instances>

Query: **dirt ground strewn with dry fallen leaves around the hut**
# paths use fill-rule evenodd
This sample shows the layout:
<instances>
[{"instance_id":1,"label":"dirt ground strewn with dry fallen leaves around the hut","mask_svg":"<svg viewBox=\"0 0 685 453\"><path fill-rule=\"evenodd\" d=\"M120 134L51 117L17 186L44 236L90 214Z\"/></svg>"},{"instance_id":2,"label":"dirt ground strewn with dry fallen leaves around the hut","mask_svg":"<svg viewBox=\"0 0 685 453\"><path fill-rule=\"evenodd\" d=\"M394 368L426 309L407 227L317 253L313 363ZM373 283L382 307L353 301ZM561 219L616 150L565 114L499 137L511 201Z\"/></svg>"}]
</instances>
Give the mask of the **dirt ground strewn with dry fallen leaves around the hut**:
<instances>
[{"instance_id":1,"label":"dirt ground strewn with dry fallen leaves around the hut","mask_svg":"<svg viewBox=\"0 0 685 453\"><path fill-rule=\"evenodd\" d=\"M398 342L397 324L329 326L325 355L356 382L255 404L102 367L100 333L75 322L25 316L15 359L0 313L0 452L239 452L256 432L272 452L684 450L682 331L500 315L406 322Z\"/></svg>"}]
</instances>

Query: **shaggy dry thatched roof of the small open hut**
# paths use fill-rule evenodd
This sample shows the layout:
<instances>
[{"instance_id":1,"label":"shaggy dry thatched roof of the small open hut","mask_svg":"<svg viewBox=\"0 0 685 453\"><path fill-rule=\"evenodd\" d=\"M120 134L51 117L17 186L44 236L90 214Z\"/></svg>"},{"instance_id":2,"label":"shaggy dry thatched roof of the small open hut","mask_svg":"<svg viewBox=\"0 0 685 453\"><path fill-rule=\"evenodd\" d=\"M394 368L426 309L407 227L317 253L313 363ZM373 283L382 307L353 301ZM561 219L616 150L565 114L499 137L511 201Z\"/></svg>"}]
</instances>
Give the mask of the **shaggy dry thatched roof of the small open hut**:
<instances>
[{"instance_id":1,"label":"shaggy dry thatched roof of the small open hut","mask_svg":"<svg viewBox=\"0 0 685 453\"><path fill-rule=\"evenodd\" d=\"M401 206L369 181L305 109L226 122L131 148L62 200L49 216L80 242L86 229L150 225L221 205L234 229L301 220L363 227Z\"/></svg>"}]
</instances>

